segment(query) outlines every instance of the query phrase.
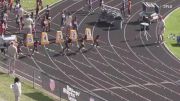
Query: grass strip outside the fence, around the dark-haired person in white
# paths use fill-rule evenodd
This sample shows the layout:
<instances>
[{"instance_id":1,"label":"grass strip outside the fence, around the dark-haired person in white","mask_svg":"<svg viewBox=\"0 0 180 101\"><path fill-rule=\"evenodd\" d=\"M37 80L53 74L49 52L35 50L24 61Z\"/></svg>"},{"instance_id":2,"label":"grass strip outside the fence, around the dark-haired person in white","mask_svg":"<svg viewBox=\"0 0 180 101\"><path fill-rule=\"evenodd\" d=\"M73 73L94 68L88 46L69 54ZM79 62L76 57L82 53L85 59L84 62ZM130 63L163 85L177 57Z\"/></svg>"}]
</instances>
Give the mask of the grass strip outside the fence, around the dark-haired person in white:
<instances>
[{"instance_id":1,"label":"grass strip outside the fence, around the dark-haired person in white","mask_svg":"<svg viewBox=\"0 0 180 101\"><path fill-rule=\"evenodd\" d=\"M13 77L0 72L0 101L14 101L14 93L10 88L13 81ZM55 99L37 89L33 89L29 83L22 82L21 101L55 101Z\"/></svg>"}]
</instances>

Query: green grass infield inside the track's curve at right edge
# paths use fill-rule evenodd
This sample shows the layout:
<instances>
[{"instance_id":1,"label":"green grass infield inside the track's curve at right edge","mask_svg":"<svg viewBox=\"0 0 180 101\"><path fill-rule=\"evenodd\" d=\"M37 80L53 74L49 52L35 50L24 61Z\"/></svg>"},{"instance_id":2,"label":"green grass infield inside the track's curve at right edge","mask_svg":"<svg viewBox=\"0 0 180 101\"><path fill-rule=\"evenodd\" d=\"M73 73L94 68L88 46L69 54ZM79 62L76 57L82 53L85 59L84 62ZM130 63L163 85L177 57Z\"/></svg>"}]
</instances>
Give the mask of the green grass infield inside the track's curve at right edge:
<instances>
[{"instance_id":1,"label":"green grass infield inside the track's curve at right edge","mask_svg":"<svg viewBox=\"0 0 180 101\"><path fill-rule=\"evenodd\" d=\"M177 36L180 36L180 8L177 8L166 17L165 26L165 45L176 58L180 59L180 43L178 44L176 41Z\"/></svg>"}]
</instances>

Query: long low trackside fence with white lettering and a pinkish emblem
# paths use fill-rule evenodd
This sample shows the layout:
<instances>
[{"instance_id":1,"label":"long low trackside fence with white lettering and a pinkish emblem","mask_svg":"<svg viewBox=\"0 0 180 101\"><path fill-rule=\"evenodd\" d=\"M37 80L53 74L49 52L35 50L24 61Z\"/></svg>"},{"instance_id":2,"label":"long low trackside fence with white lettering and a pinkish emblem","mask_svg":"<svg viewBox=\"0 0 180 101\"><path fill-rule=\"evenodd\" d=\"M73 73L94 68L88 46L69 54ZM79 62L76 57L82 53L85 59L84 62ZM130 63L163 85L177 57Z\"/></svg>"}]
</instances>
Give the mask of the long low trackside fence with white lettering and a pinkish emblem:
<instances>
[{"instance_id":1,"label":"long low trackside fence with white lettering and a pinkish emblem","mask_svg":"<svg viewBox=\"0 0 180 101\"><path fill-rule=\"evenodd\" d=\"M8 70L8 59L0 61L0 68ZM20 60L16 60L15 70L16 74L31 81L33 87L35 85L40 86L44 90L58 96L60 101L105 101L103 98L94 96L92 93L75 87L73 84L61 81ZM6 99L2 98L2 101L6 101Z\"/></svg>"}]
</instances>

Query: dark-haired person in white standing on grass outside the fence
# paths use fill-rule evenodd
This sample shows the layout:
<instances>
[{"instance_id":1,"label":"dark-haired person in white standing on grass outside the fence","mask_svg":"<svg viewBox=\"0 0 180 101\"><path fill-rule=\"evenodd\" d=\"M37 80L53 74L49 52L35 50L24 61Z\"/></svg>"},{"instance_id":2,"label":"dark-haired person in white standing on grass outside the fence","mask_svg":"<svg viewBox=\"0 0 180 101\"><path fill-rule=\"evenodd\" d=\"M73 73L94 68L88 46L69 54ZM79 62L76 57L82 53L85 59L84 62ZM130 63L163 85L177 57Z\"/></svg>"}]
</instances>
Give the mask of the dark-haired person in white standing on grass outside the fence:
<instances>
[{"instance_id":1,"label":"dark-haired person in white standing on grass outside the fence","mask_svg":"<svg viewBox=\"0 0 180 101\"><path fill-rule=\"evenodd\" d=\"M21 90L21 82L18 77L14 78L14 84L12 85L12 89L15 95L15 101L20 101L22 90Z\"/></svg>"}]
</instances>

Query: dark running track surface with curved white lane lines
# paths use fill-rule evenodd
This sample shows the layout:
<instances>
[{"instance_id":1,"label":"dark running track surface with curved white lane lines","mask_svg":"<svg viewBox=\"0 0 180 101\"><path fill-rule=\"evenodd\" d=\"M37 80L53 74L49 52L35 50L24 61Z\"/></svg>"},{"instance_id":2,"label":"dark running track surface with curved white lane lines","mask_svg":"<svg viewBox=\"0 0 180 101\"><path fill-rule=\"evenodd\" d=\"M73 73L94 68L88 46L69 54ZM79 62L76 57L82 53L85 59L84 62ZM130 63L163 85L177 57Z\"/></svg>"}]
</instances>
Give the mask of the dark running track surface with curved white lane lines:
<instances>
[{"instance_id":1,"label":"dark running track surface with curved white lane lines","mask_svg":"<svg viewBox=\"0 0 180 101\"><path fill-rule=\"evenodd\" d=\"M163 16L180 6L178 0L144 1L156 2ZM60 46L50 44L41 46L40 53L21 58L20 61L108 101L178 101L180 63L164 45L155 44L157 23L150 25L148 32L151 38L148 41L144 32L138 31L140 26L136 22L142 9L141 2L132 0L132 15L125 19L120 30L116 22L107 25L97 23L100 11L98 3L94 3L94 13L91 14L83 11L85 0L64 0L51 7L53 16L49 39L55 39L56 31L60 30L60 15L65 9L77 16L80 33L90 26L94 36L100 35L100 47L92 48L86 44L86 52L62 56L59 55ZM122 0L105 0L105 3L120 8ZM164 8L165 4L172 5L172 8ZM14 19L10 19L9 33L17 30ZM40 26L37 28L40 32ZM37 35L40 36L39 33ZM136 36L138 38L135 40ZM74 46L71 50L76 51L77 48ZM5 63L1 62L6 66ZM28 70L21 71L27 72L27 75L29 73Z\"/></svg>"}]
</instances>

